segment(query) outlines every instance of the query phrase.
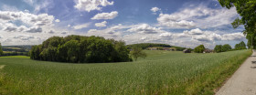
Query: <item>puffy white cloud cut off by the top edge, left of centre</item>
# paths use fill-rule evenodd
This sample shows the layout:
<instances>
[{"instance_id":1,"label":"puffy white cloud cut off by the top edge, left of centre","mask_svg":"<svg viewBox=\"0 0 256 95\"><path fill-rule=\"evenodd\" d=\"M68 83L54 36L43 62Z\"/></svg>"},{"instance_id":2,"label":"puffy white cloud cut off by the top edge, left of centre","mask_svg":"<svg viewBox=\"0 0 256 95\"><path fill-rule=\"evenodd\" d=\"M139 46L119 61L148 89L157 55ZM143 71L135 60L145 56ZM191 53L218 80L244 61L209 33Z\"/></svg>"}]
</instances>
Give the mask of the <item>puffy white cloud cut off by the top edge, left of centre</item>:
<instances>
[{"instance_id":1,"label":"puffy white cloud cut off by the top edge, left of centre","mask_svg":"<svg viewBox=\"0 0 256 95\"><path fill-rule=\"evenodd\" d=\"M113 5L113 1L108 0L77 0L75 8L80 11L90 12L92 10L101 10L101 6Z\"/></svg>"}]
</instances>

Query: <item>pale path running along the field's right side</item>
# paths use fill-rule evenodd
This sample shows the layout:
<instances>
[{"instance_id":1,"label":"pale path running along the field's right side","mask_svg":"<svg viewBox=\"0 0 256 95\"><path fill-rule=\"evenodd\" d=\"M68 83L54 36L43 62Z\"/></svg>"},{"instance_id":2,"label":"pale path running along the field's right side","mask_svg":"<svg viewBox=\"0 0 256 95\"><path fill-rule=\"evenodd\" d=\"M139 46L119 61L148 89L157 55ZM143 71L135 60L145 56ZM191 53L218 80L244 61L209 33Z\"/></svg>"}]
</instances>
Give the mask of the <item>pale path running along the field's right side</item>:
<instances>
[{"instance_id":1,"label":"pale path running along the field's right side","mask_svg":"<svg viewBox=\"0 0 256 95\"><path fill-rule=\"evenodd\" d=\"M216 95L256 95L256 50Z\"/></svg>"}]
</instances>

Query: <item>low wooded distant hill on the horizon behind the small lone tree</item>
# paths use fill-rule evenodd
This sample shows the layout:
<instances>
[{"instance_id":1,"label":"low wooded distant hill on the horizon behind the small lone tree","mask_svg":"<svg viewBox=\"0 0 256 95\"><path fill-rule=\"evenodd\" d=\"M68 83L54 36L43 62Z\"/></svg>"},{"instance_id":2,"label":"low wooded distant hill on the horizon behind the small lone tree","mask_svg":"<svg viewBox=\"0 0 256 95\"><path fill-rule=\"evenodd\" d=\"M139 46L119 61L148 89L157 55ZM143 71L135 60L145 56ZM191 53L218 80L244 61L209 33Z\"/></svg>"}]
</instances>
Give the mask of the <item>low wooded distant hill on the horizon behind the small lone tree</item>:
<instances>
[{"instance_id":1,"label":"low wooded distant hill on the horizon behind the small lone tree","mask_svg":"<svg viewBox=\"0 0 256 95\"><path fill-rule=\"evenodd\" d=\"M157 44L157 43L140 43L140 44L132 44L132 45L127 45L127 47L130 49L134 46L137 47L142 47L143 49L147 48L147 47L176 47L176 46L170 46L167 44ZM186 49L186 47L176 47L177 51L182 51Z\"/></svg>"}]
</instances>

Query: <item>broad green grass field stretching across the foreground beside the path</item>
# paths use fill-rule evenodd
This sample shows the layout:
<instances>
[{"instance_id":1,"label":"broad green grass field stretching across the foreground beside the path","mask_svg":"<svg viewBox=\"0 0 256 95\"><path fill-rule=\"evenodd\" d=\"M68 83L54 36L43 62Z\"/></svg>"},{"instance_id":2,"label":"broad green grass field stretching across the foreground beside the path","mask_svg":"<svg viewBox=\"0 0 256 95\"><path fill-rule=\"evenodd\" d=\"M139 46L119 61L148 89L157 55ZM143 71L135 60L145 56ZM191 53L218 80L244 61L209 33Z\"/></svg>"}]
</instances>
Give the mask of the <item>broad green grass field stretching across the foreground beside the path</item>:
<instances>
[{"instance_id":1,"label":"broad green grass field stretching across the foreground beside the path","mask_svg":"<svg viewBox=\"0 0 256 95\"><path fill-rule=\"evenodd\" d=\"M135 62L69 64L0 58L0 94L214 94L251 50L145 51Z\"/></svg>"}]
</instances>

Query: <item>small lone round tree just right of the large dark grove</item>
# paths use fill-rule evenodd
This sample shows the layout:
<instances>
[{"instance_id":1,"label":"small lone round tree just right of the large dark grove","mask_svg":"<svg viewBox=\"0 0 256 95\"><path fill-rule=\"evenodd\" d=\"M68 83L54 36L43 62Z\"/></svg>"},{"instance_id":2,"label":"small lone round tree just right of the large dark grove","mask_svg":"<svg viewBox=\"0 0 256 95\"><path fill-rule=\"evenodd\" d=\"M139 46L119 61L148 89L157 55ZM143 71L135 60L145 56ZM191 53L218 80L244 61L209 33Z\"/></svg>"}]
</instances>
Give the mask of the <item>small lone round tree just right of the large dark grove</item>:
<instances>
[{"instance_id":1,"label":"small lone round tree just right of the large dark grove","mask_svg":"<svg viewBox=\"0 0 256 95\"><path fill-rule=\"evenodd\" d=\"M131 55L135 60L137 60L137 58L146 57L146 54L144 53L143 49L141 47L136 47L136 46L132 47Z\"/></svg>"}]
</instances>

